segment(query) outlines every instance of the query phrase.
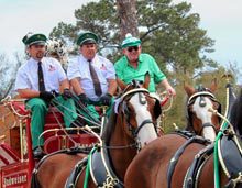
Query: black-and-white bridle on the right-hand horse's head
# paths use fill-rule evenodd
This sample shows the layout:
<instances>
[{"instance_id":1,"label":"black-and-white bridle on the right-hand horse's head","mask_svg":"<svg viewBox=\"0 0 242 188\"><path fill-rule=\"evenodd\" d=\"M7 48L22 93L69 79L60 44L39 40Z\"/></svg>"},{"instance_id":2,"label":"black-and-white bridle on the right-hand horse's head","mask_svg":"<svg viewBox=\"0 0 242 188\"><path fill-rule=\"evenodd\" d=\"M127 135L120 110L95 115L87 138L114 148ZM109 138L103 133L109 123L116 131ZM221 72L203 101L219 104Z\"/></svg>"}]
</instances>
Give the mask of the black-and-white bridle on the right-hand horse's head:
<instances>
[{"instance_id":1,"label":"black-and-white bridle on the right-hand horse's head","mask_svg":"<svg viewBox=\"0 0 242 188\"><path fill-rule=\"evenodd\" d=\"M194 93L193 96L190 96L189 99L188 99L188 102L187 102L187 113L188 113L188 119L189 119L189 123L190 123L190 124L193 124L193 123L191 123L191 115L190 115L190 113L189 113L189 107L190 107L191 104L194 104L194 102L195 102L195 100L197 99L197 97L201 97L200 102L199 102L199 104L200 104L201 107L205 107L205 106L206 106L206 102L205 102L205 100L204 100L204 97L209 97L210 100L212 100L213 102L217 102L217 103L219 104L219 111L221 111L221 104L220 104L220 102L216 99L215 95L212 95L210 91L207 91L207 90L206 90L206 91L198 91L198 92ZM202 130L204 130L205 128L208 128L208 126L211 126L211 128L215 130L216 133L218 132L217 129L216 129L216 126L215 126L213 124L211 124L211 123L205 123L205 124L202 124L201 129L198 131L198 134L200 135L201 132L202 132ZM194 128L193 128L193 129L194 129Z\"/></svg>"}]
</instances>

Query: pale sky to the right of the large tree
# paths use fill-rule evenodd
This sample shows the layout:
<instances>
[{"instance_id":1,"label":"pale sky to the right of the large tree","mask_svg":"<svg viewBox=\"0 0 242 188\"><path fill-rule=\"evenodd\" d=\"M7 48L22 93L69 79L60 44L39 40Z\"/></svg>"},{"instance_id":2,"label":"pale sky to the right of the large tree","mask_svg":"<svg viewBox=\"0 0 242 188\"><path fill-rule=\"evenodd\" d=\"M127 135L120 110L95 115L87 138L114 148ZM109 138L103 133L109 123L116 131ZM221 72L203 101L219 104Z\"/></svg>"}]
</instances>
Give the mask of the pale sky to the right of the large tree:
<instances>
[{"instance_id":1,"label":"pale sky to the right of the large tree","mask_svg":"<svg viewBox=\"0 0 242 188\"><path fill-rule=\"evenodd\" d=\"M174 2L182 2L175 0ZM200 27L216 41L215 53L209 56L227 65L237 62L242 67L242 1L241 0L186 0L191 12L199 13Z\"/></svg>"}]
</instances>

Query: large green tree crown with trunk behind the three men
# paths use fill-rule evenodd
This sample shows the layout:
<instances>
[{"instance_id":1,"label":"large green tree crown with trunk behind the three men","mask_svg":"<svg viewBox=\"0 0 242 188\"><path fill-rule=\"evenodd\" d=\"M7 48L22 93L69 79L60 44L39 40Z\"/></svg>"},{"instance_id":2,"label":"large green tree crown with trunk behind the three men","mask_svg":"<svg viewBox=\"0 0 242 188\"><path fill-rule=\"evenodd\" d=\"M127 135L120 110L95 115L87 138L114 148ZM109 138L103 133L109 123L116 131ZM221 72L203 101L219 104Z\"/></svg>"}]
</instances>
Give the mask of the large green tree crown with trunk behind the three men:
<instances>
[{"instance_id":1,"label":"large green tree crown with trunk behind the three men","mask_svg":"<svg viewBox=\"0 0 242 188\"><path fill-rule=\"evenodd\" d=\"M62 22L53 29L51 36L64 37L66 43L74 44L79 32L89 30L100 36L101 47L110 47L121 43L124 32L135 33L134 29L123 29L120 32L120 24L125 27L128 23L133 23L132 26L139 23L143 51L153 55L164 71L169 65L180 74L193 76L196 68L212 65L213 62L206 57L206 53L212 52L213 41L206 35L205 30L199 29L200 16L190 13L190 9L191 4L187 2L174 4L172 0L139 0L136 7L134 0L122 3L100 0L77 9L76 24ZM122 15L123 12L134 12L133 20L124 21L130 14ZM111 60L116 59L117 56L113 56Z\"/></svg>"}]
</instances>

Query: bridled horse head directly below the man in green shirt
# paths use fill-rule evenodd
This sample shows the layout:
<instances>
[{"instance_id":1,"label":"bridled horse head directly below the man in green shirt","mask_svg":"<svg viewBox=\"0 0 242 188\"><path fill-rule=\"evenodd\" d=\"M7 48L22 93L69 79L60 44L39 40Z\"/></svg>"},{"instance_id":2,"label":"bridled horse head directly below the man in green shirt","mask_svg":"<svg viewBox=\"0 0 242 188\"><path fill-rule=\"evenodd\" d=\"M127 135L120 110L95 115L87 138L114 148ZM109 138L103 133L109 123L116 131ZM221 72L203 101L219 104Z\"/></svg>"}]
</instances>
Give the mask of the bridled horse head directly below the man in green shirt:
<instances>
[{"instance_id":1,"label":"bridled horse head directly below the man in green shirt","mask_svg":"<svg viewBox=\"0 0 242 188\"><path fill-rule=\"evenodd\" d=\"M134 140L140 148L157 137L156 120L162 112L158 99L150 96L148 84L148 74L143 82L133 80L125 85L118 79L122 95L116 102L117 113L125 135Z\"/></svg>"}]
</instances>

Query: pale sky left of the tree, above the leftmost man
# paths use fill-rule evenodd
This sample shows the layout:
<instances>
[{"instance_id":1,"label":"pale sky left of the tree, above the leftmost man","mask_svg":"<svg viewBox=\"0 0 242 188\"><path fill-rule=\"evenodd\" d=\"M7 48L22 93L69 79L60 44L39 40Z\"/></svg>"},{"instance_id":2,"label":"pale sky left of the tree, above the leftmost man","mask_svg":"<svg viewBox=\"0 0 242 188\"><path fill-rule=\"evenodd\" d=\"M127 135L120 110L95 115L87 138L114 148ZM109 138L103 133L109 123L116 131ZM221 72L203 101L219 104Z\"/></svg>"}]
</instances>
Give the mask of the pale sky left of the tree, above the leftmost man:
<instances>
[{"instance_id":1,"label":"pale sky left of the tree, above the leftmost man","mask_svg":"<svg viewBox=\"0 0 242 188\"><path fill-rule=\"evenodd\" d=\"M0 0L0 53L24 52L28 32L48 35L59 22L75 23L74 12L90 0Z\"/></svg>"}]
</instances>

